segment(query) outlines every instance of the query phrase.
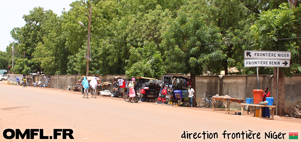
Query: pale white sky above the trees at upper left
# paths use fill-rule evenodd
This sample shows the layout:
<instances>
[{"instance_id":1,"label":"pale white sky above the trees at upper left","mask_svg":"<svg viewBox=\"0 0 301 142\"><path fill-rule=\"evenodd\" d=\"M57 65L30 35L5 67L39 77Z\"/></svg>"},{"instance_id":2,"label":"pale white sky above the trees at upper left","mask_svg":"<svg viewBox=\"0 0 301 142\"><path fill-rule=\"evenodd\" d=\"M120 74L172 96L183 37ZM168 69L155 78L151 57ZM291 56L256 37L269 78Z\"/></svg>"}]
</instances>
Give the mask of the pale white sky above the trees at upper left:
<instances>
[{"instance_id":1,"label":"pale white sky above the trees at upper left","mask_svg":"<svg viewBox=\"0 0 301 142\"><path fill-rule=\"evenodd\" d=\"M24 14L28 15L34 7L42 7L44 10L52 10L57 16L61 15L63 8L70 10L70 4L76 0L4 0L0 8L0 50L5 52L9 42L13 42L10 31L14 27L23 27Z\"/></svg>"}]
</instances>

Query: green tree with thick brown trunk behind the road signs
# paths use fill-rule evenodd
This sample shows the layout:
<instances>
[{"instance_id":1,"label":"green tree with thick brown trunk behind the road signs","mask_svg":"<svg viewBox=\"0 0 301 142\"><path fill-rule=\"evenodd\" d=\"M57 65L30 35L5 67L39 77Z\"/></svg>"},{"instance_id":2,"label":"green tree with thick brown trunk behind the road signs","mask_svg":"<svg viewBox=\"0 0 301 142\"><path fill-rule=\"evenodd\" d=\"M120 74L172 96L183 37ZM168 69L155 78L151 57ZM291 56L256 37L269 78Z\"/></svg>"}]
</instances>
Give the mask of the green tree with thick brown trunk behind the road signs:
<instances>
[{"instance_id":1,"label":"green tree with thick brown trunk behind the road signs","mask_svg":"<svg viewBox=\"0 0 301 142\"><path fill-rule=\"evenodd\" d=\"M278 9L263 11L259 20L251 27L250 36L257 42L252 44L255 50L290 51L292 52L291 67L279 69L278 84L278 114L285 115L284 105L284 76L290 77L292 73L300 73L300 39L286 39L273 41L259 41L267 39L284 39L300 37L299 32L301 8L290 8L288 3L280 5ZM274 69L277 76L277 68ZM273 96L276 96L276 79L274 77Z\"/></svg>"}]
</instances>

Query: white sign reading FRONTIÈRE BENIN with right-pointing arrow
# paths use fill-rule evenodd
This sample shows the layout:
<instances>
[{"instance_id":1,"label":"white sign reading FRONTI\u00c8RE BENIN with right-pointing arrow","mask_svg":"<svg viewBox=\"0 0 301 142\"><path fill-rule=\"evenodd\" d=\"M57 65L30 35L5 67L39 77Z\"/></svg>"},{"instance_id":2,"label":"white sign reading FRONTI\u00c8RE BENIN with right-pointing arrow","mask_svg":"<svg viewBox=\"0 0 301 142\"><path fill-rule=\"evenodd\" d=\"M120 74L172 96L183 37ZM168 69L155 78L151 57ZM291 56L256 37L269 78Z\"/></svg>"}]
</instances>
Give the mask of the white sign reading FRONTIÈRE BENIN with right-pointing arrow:
<instances>
[{"instance_id":1,"label":"white sign reading FRONTI\u00c8RE BENIN with right-pointing arrow","mask_svg":"<svg viewBox=\"0 0 301 142\"><path fill-rule=\"evenodd\" d=\"M244 67L290 67L290 60L245 59Z\"/></svg>"}]
</instances>

